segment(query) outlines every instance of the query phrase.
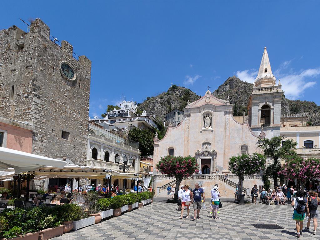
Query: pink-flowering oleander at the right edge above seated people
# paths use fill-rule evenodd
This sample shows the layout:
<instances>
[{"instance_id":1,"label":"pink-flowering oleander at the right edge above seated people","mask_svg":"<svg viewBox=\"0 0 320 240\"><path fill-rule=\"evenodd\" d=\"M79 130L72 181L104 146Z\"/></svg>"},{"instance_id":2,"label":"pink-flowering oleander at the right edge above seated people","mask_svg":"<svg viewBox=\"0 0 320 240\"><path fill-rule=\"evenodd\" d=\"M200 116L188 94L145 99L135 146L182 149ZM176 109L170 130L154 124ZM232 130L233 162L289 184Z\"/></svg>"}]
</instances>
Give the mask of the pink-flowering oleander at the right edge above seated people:
<instances>
[{"instance_id":1,"label":"pink-flowering oleander at the right edge above seated people","mask_svg":"<svg viewBox=\"0 0 320 240\"><path fill-rule=\"evenodd\" d=\"M289 180L299 180L304 189L309 179L320 178L320 159L288 156L278 174L283 174Z\"/></svg>"}]
</instances>

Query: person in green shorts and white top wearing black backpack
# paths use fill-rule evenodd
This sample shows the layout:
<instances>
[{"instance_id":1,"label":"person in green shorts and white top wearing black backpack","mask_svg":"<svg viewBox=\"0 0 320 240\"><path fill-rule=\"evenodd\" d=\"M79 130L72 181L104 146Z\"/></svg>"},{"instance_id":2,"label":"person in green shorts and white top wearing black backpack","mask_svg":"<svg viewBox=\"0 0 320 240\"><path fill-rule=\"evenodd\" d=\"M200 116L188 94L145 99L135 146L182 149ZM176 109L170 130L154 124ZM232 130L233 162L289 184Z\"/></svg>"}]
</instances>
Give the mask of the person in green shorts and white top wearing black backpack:
<instances>
[{"instance_id":1,"label":"person in green shorts and white top wearing black backpack","mask_svg":"<svg viewBox=\"0 0 320 240\"><path fill-rule=\"evenodd\" d=\"M292 219L296 221L297 237L302 235L303 220L306 213L307 216L310 216L307 201L308 199L304 197L304 192L299 190L291 203L294 208Z\"/></svg>"}]
</instances>

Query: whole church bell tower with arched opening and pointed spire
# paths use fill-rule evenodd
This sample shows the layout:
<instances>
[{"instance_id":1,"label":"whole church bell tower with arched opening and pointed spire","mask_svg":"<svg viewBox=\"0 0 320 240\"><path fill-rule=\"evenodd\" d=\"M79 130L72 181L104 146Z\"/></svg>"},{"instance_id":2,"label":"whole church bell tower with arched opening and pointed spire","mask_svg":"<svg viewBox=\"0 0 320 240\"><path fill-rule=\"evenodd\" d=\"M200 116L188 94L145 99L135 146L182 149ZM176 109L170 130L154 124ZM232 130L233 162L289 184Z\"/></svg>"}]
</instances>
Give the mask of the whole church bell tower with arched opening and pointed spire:
<instances>
[{"instance_id":1,"label":"whole church bell tower with arched opening and pointed spire","mask_svg":"<svg viewBox=\"0 0 320 240\"><path fill-rule=\"evenodd\" d=\"M248 121L254 134L267 138L280 136L283 94L280 81L276 85L276 78L272 74L265 47L248 104Z\"/></svg>"}]
</instances>

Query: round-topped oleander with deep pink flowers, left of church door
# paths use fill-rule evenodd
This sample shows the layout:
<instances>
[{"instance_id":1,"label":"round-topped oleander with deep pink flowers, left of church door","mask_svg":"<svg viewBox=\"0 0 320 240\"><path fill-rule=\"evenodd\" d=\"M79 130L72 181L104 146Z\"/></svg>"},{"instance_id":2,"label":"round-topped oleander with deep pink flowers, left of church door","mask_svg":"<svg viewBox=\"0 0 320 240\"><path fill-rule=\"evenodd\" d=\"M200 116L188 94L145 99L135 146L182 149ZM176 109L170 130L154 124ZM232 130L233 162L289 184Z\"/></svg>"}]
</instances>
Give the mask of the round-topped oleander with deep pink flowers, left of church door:
<instances>
[{"instance_id":1,"label":"round-topped oleander with deep pink flowers, left of church door","mask_svg":"<svg viewBox=\"0 0 320 240\"><path fill-rule=\"evenodd\" d=\"M184 178L188 178L190 175L199 172L199 164L196 159L191 156L164 156L156 164L156 169L162 174L166 174L169 177L173 176L176 179L176 187L174 191L174 200L178 200L178 191L180 189L180 183Z\"/></svg>"}]
</instances>

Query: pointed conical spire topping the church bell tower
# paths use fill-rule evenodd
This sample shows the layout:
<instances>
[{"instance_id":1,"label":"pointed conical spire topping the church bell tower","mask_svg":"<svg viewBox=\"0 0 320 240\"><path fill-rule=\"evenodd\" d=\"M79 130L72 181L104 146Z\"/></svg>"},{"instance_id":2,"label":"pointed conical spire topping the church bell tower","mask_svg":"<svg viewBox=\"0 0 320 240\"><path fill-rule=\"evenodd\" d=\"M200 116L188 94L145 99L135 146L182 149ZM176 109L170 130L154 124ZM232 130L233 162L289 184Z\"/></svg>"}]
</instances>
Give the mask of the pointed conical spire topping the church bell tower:
<instances>
[{"instance_id":1,"label":"pointed conical spire topping the church bell tower","mask_svg":"<svg viewBox=\"0 0 320 240\"><path fill-rule=\"evenodd\" d=\"M255 87L270 87L276 85L276 78L273 76L268 57L267 47L264 47L258 76L254 82Z\"/></svg>"}]
</instances>

